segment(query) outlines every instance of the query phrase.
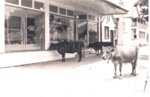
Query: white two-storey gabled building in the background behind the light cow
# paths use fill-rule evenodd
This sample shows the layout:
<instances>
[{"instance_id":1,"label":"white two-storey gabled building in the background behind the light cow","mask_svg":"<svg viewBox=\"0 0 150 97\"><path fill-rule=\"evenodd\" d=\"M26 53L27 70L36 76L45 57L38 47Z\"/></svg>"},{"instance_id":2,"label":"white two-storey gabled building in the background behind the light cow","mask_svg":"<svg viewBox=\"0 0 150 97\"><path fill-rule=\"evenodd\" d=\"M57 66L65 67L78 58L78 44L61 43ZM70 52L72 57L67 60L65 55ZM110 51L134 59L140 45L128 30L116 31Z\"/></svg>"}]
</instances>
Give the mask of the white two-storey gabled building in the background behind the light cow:
<instances>
[{"instance_id":1,"label":"white two-storey gabled building in the background behind the light cow","mask_svg":"<svg viewBox=\"0 0 150 97\"><path fill-rule=\"evenodd\" d=\"M122 0L120 1L120 6L123 7ZM148 23L145 19L140 18L139 10L134 7L134 4L128 14L115 15L114 17L118 20L118 37L122 37L119 39L120 43L138 45L148 43Z\"/></svg>"}]
</instances>

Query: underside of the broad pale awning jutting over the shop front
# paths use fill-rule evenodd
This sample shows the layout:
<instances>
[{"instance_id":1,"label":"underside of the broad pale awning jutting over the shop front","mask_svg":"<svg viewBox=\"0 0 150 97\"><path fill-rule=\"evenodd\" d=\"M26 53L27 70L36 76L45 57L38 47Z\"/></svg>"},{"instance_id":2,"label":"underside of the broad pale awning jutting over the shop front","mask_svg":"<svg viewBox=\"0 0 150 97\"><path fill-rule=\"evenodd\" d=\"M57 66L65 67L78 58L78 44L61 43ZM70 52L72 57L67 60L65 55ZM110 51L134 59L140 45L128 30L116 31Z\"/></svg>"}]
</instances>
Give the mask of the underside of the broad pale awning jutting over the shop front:
<instances>
[{"instance_id":1,"label":"underside of the broad pale awning jutting over the shop front","mask_svg":"<svg viewBox=\"0 0 150 97\"><path fill-rule=\"evenodd\" d=\"M94 15L111 15L126 14L128 11L120 6L107 0L51 0L73 7L75 10L94 14Z\"/></svg>"}]
</instances>

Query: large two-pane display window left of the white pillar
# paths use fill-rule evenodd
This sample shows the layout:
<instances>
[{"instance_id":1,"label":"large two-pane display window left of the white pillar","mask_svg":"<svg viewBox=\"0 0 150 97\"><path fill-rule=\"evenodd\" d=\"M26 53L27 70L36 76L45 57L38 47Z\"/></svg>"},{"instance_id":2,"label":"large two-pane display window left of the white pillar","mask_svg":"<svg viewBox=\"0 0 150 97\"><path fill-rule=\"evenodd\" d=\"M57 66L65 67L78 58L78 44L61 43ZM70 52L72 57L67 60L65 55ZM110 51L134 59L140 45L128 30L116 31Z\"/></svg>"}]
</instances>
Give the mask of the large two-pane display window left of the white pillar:
<instances>
[{"instance_id":1,"label":"large two-pane display window left of the white pillar","mask_svg":"<svg viewBox=\"0 0 150 97\"><path fill-rule=\"evenodd\" d=\"M43 12L5 6L6 51L43 49L44 24Z\"/></svg>"}]
</instances>

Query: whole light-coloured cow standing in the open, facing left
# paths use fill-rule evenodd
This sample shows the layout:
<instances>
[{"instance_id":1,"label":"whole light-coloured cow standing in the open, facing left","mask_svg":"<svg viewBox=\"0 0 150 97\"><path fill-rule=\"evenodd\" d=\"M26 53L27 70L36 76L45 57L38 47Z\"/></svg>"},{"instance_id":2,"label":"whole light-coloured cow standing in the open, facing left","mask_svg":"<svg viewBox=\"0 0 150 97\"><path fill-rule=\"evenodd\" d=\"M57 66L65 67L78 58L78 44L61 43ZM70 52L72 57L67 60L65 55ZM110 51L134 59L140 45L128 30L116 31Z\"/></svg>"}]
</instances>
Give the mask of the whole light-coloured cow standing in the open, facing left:
<instances>
[{"instance_id":1,"label":"whole light-coloured cow standing in the open, facing left","mask_svg":"<svg viewBox=\"0 0 150 97\"><path fill-rule=\"evenodd\" d=\"M136 65L138 58L138 48L137 46L123 46L118 45L115 48L103 47L103 59L111 59L114 64L115 76L117 77L117 65L119 64L120 76L122 76L122 63L131 63L132 64L132 73L131 75L136 75Z\"/></svg>"}]
</instances>

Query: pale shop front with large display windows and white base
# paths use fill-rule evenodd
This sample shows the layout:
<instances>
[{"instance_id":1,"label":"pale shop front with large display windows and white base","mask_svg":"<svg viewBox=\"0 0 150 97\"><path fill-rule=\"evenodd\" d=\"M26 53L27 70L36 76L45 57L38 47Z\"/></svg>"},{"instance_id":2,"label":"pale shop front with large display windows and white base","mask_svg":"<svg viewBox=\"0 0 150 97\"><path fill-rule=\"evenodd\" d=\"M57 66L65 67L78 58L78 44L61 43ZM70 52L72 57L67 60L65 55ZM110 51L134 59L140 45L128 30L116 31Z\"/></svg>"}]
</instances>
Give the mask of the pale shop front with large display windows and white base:
<instances>
[{"instance_id":1,"label":"pale shop front with large display windows and white base","mask_svg":"<svg viewBox=\"0 0 150 97\"><path fill-rule=\"evenodd\" d=\"M5 0L1 3L4 18L1 19L0 67L60 59L56 51L47 50L51 43L82 40L89 44L100 40L99 13L56 1Z\"/></svg>"}]
</instances>

